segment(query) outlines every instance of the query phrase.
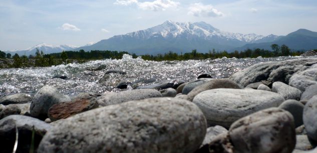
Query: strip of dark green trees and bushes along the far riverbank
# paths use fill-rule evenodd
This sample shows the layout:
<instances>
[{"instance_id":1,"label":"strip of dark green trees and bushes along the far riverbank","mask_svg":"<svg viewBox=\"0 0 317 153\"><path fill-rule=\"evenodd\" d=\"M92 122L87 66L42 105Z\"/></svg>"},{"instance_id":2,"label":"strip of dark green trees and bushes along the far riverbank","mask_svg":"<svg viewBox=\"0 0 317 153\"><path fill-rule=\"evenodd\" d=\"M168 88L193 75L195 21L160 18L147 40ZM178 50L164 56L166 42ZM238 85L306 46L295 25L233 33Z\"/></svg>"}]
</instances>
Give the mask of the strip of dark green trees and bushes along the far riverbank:
<instances>
[{"instance_id":1,"label":"strip of dark green trees and bushes along the far riverbank","mask_svg":"<svg viewBox=\"0 0 317 153\"><path fill-rule=\"evenodd\" d=\"M180 53L169 51L165 54L158 55L141 55L144 60L151 61L173 61L173 60L203 60L216 58L256 58L256 57L278 57L278 56L299 56L304 51L291 51L286 45L278 46L271 45L272 51L264 49L247 49L244 51L215 51L210 50L208 53L199 53L197 50L192 50L189 53ZM68 63L84 63L90 60L100 59L121 59L128 52L118 51L63 51L61 53L44 54L43 51L37 49L35 55L19 56L18 54L11 55L0 51L0 68L23 68L23 67L48 67L53 65L68 64ZM136 54L130 54L133 58L137 58Z\"/></svg>"}]
</instances>

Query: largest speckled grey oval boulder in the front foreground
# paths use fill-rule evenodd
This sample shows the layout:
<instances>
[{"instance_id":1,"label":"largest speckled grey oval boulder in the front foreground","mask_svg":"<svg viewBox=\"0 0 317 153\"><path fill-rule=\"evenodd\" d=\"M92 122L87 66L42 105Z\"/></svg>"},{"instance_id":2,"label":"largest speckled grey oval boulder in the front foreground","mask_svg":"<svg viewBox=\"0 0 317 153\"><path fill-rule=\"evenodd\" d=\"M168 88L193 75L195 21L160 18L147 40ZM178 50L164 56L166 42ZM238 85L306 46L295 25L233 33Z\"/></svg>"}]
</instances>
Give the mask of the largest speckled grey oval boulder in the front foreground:
<instances>
[{"instance_id":1,"label":"largest speckled grey oval boulder in the front foreground","mask_svg":"<svg viewBox=\"0 0 317 153\"><path fill-rule=\"evenodd\" d=\"M176 98L150 98L64 119L44 136L38 153L190 153L200 146L205 134L206 120L195 104Z\"/></svg>"}]
</instances>

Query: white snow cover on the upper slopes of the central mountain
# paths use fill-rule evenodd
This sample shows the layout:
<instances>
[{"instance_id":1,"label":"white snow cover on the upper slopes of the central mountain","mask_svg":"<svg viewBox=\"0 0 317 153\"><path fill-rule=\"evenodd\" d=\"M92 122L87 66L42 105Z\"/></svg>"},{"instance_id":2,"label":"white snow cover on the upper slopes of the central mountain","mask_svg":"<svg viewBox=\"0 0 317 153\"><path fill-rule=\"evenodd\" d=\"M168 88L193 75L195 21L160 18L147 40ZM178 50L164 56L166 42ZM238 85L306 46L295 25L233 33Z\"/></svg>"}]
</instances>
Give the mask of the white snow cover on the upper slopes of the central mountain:
<instances>
[{"instance_id":1,"label":"white snow cover on the upper slopes of the central mountain","mask_svg":"<svg viewBox=\"0 0 317 153\"><path fill-rule=\"evenodd\" d=\"M158 25L146 30L128 33L126 35L139 39L149 39L151 37L157 37L157 35L160 35L164 38L176 38L183 36L184 34L198 36L207 40L213 37L218 37L221 39L238 40L247 43L252 43L264 37L256 34L240 34L220 31L219 29L216 29L205 22L179 23L172 21L166 21L162 25Z\"/></svg>"}]
</instances>

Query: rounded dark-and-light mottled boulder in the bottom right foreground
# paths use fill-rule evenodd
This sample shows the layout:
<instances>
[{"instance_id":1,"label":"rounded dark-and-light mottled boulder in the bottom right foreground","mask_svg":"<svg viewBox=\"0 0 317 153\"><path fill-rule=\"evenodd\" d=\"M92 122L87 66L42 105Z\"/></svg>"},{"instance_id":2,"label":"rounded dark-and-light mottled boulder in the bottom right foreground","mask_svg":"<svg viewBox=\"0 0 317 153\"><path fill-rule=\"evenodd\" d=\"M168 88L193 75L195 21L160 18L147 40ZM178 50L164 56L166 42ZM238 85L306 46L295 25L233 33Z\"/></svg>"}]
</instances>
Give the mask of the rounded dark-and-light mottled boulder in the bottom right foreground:
<instances>
[{"instance_id":1,"label":"rounded dark-and-light mottled boulder in the bottom right foreground","mask_svg":"<svg viewBox=\"0 0 317 153\"><path fill-rule=\"evenodd\" d=\"M229 131L209 143L210 152L290 153L296 136L291 114L268 108L235 121Z\"/></svg>"}]
</instances>

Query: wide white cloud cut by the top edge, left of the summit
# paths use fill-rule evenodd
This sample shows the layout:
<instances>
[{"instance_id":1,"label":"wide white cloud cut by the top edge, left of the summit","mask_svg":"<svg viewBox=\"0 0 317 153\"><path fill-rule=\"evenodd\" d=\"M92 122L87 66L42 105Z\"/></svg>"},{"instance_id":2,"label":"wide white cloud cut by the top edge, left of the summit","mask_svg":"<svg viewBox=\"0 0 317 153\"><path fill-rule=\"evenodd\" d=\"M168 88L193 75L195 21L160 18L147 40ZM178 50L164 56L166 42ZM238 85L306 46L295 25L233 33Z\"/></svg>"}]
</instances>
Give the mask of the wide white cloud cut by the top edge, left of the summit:
<instances>
[{"instance_id":1,"label":"wide white cloud cut by the top edge, left of the summit","mask_svg":"<svg viewBox=\"0 0 317 153\"><path fill-rule=\"evenodd\" d=\"M165 11L166 9L177 8L179 6L179 3L174 2L173 0L155 0L153 2L139 2L138 0L116 0L114 4L124 6L136 4L139 9L151 11Z\"/></svg>"}]
</instances>

